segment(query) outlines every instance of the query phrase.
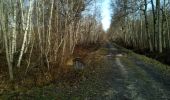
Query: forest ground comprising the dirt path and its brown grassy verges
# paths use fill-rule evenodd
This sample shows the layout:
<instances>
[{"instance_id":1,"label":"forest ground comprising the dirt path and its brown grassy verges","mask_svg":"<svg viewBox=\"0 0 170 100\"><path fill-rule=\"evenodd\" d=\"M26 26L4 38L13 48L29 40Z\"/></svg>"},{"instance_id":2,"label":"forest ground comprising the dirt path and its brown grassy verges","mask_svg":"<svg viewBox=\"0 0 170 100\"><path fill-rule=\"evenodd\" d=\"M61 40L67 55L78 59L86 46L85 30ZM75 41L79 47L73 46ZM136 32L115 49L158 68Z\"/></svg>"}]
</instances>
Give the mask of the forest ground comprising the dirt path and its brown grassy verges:
<instances>
[{"instance_id":1,"label":"forest ground comprising the dirt path and its brown grassy verges","mask_svg":"<svg viewBox=\"0 0 170 100\"><path fill-rule=\"evenodd\" d=\"M106 43L84 62L76 84L0 91L0 100L170 100L170 67L156 60Z\"/></svg>"}]
</instances>

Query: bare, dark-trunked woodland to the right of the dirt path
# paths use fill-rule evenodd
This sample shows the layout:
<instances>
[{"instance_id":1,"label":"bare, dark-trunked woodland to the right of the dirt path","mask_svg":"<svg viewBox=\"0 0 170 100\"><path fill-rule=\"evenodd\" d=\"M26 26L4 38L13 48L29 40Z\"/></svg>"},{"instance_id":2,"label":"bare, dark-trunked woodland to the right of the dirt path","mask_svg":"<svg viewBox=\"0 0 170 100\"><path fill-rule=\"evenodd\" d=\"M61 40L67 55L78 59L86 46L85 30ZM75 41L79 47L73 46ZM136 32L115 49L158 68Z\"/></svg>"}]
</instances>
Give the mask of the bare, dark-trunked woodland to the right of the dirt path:
<instances>
[{"instance_id":1,"label":"bare, dark-trunked woodland to the right of the dirt path","mask_svg":"<svg viewBox=\"0 0 170 100\"><path fill-rule=\"evenodd\" d=\"M169 52L169 0L113 0L113 2L114 13L109 31L114 41L142 52Z\"/></svg>"}]
</instances>

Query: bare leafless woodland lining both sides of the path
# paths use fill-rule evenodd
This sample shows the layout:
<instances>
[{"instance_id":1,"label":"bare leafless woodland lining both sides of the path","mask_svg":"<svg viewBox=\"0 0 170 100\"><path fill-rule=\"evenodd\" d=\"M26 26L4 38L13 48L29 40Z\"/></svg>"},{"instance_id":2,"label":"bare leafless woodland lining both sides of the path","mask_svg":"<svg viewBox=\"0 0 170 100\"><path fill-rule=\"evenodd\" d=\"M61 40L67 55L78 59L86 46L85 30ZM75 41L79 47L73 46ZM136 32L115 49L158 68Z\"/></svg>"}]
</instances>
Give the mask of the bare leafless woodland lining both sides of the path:
<instances>
[{"instance_id":1,"label":"bare leafless woodland lining both sides of the path","mask_svg":"<svg viewBox=\"0 0 170 100\"><path fill-rule=\"evenodd\" d=\"M112 0L111 8L111 27L106 34L96 0L1 0L2 74L8 72L8 79L14 80L23 73L35 73L35 68L44 74L60 73L76 46L104 40L156 53L154 57L168 55L168 0Z\"/></svg>"}]
</instances>

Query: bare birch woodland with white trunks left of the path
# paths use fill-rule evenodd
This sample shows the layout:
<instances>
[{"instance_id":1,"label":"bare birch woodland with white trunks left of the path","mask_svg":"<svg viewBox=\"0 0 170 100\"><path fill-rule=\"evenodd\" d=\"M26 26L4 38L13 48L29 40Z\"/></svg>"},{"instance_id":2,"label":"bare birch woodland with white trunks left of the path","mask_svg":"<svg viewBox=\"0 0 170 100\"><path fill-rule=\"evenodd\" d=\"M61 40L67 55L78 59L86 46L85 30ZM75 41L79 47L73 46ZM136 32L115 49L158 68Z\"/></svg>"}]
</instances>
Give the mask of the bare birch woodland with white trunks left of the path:
<instances>
[{"instance_id":1,"label":"bare birch woodland with white trunks left of the path","mask_svg":"<svg viewBox=\"0 0 170 100\"><path fill-rule=\"evenodd\" d=\"M10 80L63 67L76 45L102 40L96 9L94 0L0 0L0 67Z\"/></svg>"}]
</instances>

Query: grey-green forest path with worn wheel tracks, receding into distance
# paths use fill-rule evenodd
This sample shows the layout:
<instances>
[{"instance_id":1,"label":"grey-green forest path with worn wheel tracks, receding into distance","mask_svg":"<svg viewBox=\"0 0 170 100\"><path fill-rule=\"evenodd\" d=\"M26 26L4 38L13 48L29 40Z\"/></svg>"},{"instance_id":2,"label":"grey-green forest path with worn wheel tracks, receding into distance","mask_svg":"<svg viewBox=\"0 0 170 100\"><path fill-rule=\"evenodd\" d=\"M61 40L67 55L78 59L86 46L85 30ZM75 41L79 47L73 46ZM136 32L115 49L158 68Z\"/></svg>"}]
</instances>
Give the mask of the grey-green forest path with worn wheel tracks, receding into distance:
<instances>
[{"instance_id":1,"label":"grey-green forest path with worn wheel tracks, receding into distance","mask_svg":"<svg viewBox=\"0 0 170 100\"><path fill-rule=\"evenodd\" d=\"M106 48L112 57L103 59L103 66L110 67L112 73L105 81L111 82L109 91L114 91L107 100L170 100L170 84L165 84L163 75L154 69L158 65L147 63L111 43Z\"/></svg>"}]
</instances>

